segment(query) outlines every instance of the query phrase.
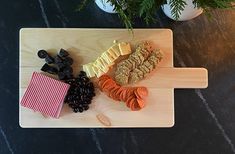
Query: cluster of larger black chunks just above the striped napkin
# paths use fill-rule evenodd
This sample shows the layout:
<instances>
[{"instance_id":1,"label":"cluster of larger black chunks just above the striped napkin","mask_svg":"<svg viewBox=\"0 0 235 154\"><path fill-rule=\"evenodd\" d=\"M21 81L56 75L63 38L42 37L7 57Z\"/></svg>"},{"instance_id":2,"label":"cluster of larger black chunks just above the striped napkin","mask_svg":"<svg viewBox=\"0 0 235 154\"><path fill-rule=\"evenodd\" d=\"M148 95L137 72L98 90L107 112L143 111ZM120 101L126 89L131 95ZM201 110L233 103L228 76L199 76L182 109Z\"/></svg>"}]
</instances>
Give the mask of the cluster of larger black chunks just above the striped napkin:
<instances>
[{"instance_id":1,"label":"cluster of larger black chunks just above the striped napkin","mask_svg":"<svg viewBox=\"0 0 235 154\"><path fill-rule=\"evenodd\" d=\"M73 59L69 57L69 53L60 49L59 53L52 57L46 50L39 50L38 57L45 59L46 63L41 70L50 74L57 74L60 80L67 80L73 78Z\"/></svg>"}]
</instances>

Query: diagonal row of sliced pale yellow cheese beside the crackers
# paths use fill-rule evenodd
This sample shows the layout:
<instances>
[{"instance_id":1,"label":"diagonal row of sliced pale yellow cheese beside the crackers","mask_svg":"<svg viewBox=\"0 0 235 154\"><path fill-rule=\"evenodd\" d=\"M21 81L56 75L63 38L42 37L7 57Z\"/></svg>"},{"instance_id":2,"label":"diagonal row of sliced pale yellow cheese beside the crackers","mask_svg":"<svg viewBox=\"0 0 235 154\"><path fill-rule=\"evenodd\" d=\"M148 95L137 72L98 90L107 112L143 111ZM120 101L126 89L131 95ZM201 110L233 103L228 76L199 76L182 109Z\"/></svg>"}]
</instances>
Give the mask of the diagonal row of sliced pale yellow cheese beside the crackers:
<instances>
[{"instance_id":1,"label":"diagonal row of sliced pale yellow cheese beside the crackers","mask_svg":"<svg viewBox=\"0 0 235 154\"><path fill-rule=\"evenodd\" d=\"M131 46L129 43L121 42L114 44L107 51L103 52L94 62L83 65L83 71L88 77L100 77L108 72L109 67L114 65L114 61L120 55L127 55L131 53Z\"/></svg>"}]
</instances>

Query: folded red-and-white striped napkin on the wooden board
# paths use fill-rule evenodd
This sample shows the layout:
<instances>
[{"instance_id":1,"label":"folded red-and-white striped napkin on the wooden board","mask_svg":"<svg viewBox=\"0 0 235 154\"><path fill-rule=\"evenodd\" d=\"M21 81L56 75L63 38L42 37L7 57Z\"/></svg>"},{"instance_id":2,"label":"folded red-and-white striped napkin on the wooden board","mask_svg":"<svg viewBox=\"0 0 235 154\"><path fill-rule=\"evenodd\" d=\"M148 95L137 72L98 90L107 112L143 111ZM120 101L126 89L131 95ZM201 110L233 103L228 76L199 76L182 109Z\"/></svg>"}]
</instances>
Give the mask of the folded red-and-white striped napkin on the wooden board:
<instances>
[{"instance_id":1,"label":"folded red-and-white striped napkin on the wooden board","mask_svg":"<svg viewBox=\"0 0 235 154\"><path fill-rule=\"evenodd\" d=\"M58 118L69 87L69 84L34 72L21 105Z\"/></svg>"}]
</instances>

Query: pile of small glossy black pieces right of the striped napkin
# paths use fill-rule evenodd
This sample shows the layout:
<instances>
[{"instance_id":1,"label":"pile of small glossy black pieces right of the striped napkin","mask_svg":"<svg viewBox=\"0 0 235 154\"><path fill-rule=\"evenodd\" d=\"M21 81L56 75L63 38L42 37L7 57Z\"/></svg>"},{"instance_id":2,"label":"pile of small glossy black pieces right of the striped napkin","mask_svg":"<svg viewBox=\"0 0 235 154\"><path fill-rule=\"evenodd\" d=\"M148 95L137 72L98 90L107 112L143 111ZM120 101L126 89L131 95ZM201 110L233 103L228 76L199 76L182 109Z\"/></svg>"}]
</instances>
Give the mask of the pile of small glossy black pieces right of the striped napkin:
<instances>
[{"instance_id":1,"label":"pile of small glossy black pieces right of the striped napkin","mask_svg":"<svg viewBox=\"0 0 235 154\"><path fill-rule=\"evenodd\" d=\"M70 84L65 103L67 103L74 112L88 110L89 104L91 104L92 98L95 96L95 88L86 73L80 71L77 78L69 79L65 82Z\"/></svg>"}]
</instances>

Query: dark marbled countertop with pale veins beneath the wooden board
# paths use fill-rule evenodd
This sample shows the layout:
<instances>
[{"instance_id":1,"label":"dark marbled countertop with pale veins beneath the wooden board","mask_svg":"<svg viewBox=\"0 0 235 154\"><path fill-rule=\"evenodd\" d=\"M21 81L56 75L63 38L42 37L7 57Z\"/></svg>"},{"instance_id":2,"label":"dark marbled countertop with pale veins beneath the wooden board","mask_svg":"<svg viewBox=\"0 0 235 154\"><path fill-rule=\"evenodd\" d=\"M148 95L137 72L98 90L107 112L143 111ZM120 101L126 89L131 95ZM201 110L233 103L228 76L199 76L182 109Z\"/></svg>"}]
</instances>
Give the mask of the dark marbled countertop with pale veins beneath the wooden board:
<instances>
[{"instance_id":1,"label":"dark marbled countertop with pale veins beneath the wooden board","mask_svg":"<svg viewBox=\"0 0 235 154\"><path fill-rule=\"evenodd\" d=\"M156 24L174 33L174 64L205 67L209 87L175 90L175 126L168 129L22 129L18 115L19 29L123 27L94 3L8 0L0 5L0 153L235 153L235 11L216 10L186 22L162 11ZM134 27L146 27L137 20Z\"/></svg>"}]
</instances>

